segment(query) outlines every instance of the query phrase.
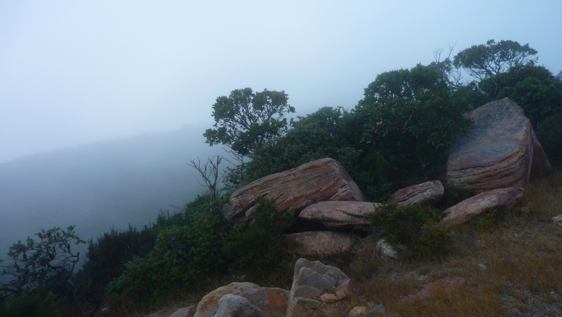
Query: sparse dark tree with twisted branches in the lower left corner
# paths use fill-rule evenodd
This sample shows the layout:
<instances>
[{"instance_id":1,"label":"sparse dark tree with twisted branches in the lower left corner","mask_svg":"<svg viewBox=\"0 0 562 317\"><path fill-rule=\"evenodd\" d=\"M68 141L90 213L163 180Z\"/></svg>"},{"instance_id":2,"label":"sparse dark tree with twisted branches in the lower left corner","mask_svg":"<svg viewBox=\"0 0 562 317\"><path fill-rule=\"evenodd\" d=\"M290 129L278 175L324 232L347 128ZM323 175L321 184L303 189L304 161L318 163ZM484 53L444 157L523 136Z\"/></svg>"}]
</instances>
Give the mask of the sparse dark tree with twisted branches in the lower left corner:
<instances>
[{"instance_id":1,"label":"sparse dark tree with twisted branches in the lower left corner","mask_svg":"<svg viewBox=\"0 0 562 317\"><path fill-rule=\"evenodd\" d=\"M0 292L20 296L26 289L43 286L60 298L72 291L72 271L80 252L72 251L71 244L85 243L76 236L74 227L66 231L57 227L42 229L35 234L39 241L28 237L25 244L14 243L8 252L13 264L2 265L0 275L7 282L0 284Z\"/></svg>"}]
</instances>

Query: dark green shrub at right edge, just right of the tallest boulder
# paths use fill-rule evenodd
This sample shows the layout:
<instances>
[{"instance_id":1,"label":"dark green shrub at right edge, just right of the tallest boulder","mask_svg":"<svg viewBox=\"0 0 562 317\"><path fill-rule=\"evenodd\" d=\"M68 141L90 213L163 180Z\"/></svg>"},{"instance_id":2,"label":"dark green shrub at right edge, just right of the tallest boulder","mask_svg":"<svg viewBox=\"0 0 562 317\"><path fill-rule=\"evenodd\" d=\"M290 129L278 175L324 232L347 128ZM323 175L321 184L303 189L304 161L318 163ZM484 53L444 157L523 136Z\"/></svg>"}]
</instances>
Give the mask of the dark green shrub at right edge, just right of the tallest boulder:
<instances>
[{"instance_id":1,"label":"dark green shrub at right edge, just right of the tallest boulder","mask_svg":"<svg viewBox=\"0 0 562 317\"><path fill-rule=\"evenodd\" d=\"M552 166L562 164L562 114L548 117L538 125L537 139Z\"/></svg>"}]
</instances>

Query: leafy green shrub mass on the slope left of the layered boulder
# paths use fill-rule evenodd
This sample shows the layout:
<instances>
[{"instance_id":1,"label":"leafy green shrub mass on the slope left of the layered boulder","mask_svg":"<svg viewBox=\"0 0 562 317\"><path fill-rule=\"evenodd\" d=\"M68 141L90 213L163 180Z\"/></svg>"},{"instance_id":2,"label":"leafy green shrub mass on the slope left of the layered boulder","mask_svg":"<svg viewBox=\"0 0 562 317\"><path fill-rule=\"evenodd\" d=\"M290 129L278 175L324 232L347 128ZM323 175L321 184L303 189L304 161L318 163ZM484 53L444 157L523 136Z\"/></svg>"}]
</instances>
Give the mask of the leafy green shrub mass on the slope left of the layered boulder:
<instances>
[{"instance_id":1,"label":"leafy green shrub mass on the slope left of the layered boulder","mask_svg":"<svg viewBox=\"0 0 562 317\"><path fill-rule=\"evenodd\" d=\"M174 286L202 284L221 271L222 239L228 224L217 205L202 205L188 215L190 225L171 225L156 237L146 257L126 264L123 274L109 284L107 292L133 298L152 298Z\"/></svg>"}]
</instances>

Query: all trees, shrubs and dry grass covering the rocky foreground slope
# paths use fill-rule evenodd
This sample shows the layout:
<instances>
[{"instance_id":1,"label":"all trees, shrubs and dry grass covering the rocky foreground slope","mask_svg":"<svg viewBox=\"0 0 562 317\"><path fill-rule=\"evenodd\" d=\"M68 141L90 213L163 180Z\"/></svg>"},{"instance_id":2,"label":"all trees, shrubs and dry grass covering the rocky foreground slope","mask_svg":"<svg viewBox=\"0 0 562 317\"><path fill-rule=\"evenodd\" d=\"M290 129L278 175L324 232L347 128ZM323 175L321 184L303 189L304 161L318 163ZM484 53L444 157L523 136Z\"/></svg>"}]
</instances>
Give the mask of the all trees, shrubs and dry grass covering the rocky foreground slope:
<instances>
[{"instance_id":1,"label":"all trees, shrubs and dry grass covering the rocky foreground slope","mask_svg":"<svg viewBox=\"0 0 562 317\"><path fill-rule=\"evenodd\" d=\"M502 54L506 51L511 54ZM162 212L140 230L110 230L83 242L74 228L53 228L48 239L43 232L14 244L11 259L0 264L6 280L0 287L0 315L88 316L108 308L105 315L137 316L194 304L234 281L288 289L297 256L280 233L291 228L294 215L279 214L274 201L261 199L253 221L225 218L221 208L234 189L331 157L369 201L385 202L397 189L442 179L447 149L470 124L463 114L504 97L523 108L555 167L555 173L532 180L524 208L496 210L452 230L438 228L441 211L472 196L446 187L438 206L388 204L373 215L377 227L371 232L385 234L400 250L401 261L378 257L369 234L347 257L321 260L360 280L366 300L383 304L387 315L560 313L562 228L550 218L562 214L562 81L536 65L536 54L528 45L493 40L452 60L440 60L437 52L430 65L379 74L350 110L323 107L290 121L284 116L294 108L284 92L233 90L217 98L216 124L205 133L207 143L228 146L236 163L225 171L223 191L210 185L211 192L182 211ZM486 69L486 58L502 67ZM461 83L461 70L479 80ZM216 162L192 163L207 184L216 184ZM83 267L75 270L68 264L80 256L74 250L80 243L88 243L88 251ZM402 303L421 282L445 276L464 283L431 300Z\"/></svg>"}]
</instances>

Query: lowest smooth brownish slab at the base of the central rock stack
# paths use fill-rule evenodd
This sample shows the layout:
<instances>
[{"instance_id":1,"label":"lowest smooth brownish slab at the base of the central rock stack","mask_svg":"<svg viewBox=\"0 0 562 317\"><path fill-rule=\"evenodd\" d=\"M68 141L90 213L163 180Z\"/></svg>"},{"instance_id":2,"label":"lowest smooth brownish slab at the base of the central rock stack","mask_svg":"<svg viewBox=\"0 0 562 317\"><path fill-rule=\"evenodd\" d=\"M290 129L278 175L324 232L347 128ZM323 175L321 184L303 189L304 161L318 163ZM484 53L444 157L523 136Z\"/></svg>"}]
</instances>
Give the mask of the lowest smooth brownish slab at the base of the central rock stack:
<instances>
[{"instance_id":1,"label":"lowest smooth brownish slab at the base of the central rock stack","mask_svg":"<svg viewBox=\"0 0 562 317\"><path fill-rule=\"evenodd\" d=\"M333 256L351 251L357 236L333 231L309 231L283 235L289 250L303 256Z\"/></svg>"}]
</instances>

